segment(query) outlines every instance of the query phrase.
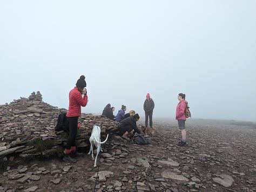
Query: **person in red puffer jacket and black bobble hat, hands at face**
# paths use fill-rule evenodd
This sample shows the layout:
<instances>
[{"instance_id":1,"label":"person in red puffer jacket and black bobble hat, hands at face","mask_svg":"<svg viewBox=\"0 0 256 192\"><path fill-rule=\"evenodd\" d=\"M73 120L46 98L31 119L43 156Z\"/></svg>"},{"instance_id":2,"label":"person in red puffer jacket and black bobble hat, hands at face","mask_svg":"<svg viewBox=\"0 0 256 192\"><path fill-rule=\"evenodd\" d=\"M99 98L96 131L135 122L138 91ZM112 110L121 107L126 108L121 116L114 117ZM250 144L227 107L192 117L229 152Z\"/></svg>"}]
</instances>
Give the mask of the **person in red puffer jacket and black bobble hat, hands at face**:
<instances>
[{"instance_id":1,"label":"person in red puffer jacket and black bobble hat, hands at face","mask_svg":"<svg viewBox=\"0 0 256 192\"><path fill-rule=\"evenodd\" d=\"M76 151L75 139L77 135L78 117L81 115L81 106L86 106L88 97L85 76L81 75L77 80L76 87L69 92L69 110L66 117L69 120L69 138L64 151L65 162L77 162L73 157L82 156L83 153Z\"/></svg>"}]
</instances>

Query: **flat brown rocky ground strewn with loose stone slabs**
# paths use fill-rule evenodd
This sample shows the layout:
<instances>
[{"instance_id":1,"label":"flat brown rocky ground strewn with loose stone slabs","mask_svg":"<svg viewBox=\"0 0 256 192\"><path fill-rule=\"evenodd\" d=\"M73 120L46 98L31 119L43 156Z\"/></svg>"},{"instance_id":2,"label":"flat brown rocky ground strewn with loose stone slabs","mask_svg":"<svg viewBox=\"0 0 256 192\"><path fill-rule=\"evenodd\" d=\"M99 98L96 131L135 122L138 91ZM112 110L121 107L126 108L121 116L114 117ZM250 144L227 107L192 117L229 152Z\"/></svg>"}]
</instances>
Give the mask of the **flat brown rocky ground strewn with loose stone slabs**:
<instances>
[{"instance_id":1,"label":"flat brown rocky ground strewn with loose stone slabs","mask_svg":"<svg viewBox=\"0 0 256 192\"><path fill-rule=\"evenodd\" d=\"M154 127L150 145L111 135L95 168L89 147L73 164L56 157L7 167L0 191L256 191L255 123L188 119L185 147L175 120Z\"/></svg>"}]
</instances>

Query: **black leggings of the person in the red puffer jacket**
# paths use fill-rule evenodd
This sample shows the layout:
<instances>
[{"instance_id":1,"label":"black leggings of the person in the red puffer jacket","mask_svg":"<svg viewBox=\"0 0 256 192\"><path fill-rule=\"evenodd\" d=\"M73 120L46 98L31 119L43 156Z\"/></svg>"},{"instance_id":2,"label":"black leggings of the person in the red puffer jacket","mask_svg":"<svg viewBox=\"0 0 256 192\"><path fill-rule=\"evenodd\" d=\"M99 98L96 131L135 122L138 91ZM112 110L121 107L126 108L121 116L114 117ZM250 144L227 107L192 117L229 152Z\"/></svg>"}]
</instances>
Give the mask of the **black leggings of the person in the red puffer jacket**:
<instances>
[{"instance_id":1,"label":"black leggings of the person in the red puffer jacket","mask_svg":"<svg viewBox=\"0 0 256 192\"><path fill-rule=\"evenodd\" d=\"M69 120L69 138L66 143L66 150L70 150L71 146L75 146L76 144L78 116L67 117L67 119Z\"/></svg>"}]
</instances>

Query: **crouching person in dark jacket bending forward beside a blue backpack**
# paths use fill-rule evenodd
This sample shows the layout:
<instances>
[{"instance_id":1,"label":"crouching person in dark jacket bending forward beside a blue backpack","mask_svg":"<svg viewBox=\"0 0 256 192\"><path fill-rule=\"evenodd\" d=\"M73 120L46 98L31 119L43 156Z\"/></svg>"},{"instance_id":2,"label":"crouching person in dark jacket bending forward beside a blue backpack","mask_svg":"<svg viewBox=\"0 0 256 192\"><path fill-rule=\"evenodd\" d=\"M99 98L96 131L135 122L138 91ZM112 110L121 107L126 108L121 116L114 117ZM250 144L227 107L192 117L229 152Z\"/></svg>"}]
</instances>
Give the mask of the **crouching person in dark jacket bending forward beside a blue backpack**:
<instances>
[{"instance_id":1,"label":"crouching person in dark jacket bending forward beside a blue backpack","mask_svg":"<svg viewBox=\"0 0 256 192\"><path fill-rule=\"evenodd\" d=\"M122 136L126 140L130 140L130 138L127 136L128 133L130 133L132 130L134 132L140 133L140 130L137 127L136 122L139 120L139 114L136 113L134 116L127 117L120 121L117 128L117 134L119 136Z\"/></svg>"}]
</instances>

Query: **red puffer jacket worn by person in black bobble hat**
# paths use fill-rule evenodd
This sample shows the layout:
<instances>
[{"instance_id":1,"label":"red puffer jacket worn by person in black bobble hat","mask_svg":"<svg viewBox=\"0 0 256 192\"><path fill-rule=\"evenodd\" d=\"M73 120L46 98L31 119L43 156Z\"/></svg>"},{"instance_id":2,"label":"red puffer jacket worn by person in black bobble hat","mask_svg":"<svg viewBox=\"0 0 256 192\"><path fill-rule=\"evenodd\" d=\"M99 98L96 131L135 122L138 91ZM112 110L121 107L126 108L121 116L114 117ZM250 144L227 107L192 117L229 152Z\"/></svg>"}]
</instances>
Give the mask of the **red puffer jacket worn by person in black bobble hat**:
<instances>
[{"instance_id":1,"label":"red puffer jacket worn by person in black bobble hat","mask_svg":"<svg viewBox=\"0 0 256 192\"><path fill-rule=\"evenodd\" d=\"M66 117L77 117L81 115L81 106L86 106L88 101L87 95L82 97L78 88L75 87L69 92L69 110Z\"/></svg>"}]
</instances>

